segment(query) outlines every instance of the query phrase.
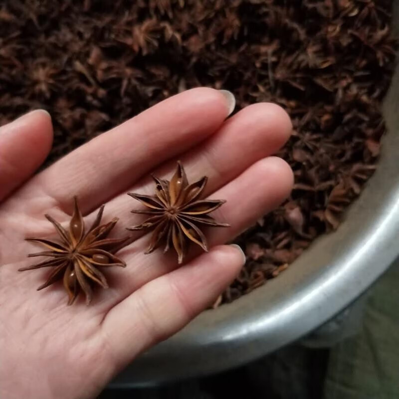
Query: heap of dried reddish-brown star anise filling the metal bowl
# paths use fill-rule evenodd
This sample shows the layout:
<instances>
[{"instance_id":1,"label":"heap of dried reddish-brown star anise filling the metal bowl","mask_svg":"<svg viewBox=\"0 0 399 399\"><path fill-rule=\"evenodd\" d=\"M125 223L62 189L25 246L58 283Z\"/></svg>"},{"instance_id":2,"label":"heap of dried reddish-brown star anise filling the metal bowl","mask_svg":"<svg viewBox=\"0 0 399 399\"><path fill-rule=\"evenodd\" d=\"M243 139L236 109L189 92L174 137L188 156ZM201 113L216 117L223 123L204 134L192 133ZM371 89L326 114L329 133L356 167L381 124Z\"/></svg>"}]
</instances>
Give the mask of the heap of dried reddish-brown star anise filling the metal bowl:
<instances>
[{"instance_id":1,"label":"heap of dried reddish-brown star anise filling the metal bowl","mask_svg":"<svg viewBox=\"0 0 399 399\"><path fill-rule=\"evenodd\" d=\"M279 153L295 190L238 239L240 277L219 303L291 263L373 174L380 103L395 64L391 0L3 0L0 123L38 107L54 123L48 162L182 90L232 91L292 117ZM256 244L255 258L249 248ZM262 252L262 254L261 254Z\"/></svg>"}]
</instances>

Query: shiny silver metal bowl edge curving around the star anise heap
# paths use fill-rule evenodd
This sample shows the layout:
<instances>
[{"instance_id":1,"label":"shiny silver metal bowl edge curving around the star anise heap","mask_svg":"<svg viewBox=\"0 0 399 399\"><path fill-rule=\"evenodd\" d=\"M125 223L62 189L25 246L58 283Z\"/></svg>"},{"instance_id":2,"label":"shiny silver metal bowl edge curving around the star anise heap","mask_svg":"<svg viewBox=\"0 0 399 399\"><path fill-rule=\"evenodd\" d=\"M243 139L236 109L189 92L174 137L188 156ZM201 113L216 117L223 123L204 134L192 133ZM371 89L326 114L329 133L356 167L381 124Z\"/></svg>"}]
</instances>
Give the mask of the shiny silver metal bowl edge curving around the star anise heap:
<instances>
[{"instance_id":1,"label":"shiny silver metal bowl edge curving around the star anise heap","mask_svg":"<svg viewBox=\"0 0 399 399\"><path fill-rule=\"evenodd\" d=\"M320 237L278 278L202 313L112 384L147 385L238 366L314 330L354 301L399 253L399 71L385 102L381 163L338 231Z\"/></svg>"}]
</instances>

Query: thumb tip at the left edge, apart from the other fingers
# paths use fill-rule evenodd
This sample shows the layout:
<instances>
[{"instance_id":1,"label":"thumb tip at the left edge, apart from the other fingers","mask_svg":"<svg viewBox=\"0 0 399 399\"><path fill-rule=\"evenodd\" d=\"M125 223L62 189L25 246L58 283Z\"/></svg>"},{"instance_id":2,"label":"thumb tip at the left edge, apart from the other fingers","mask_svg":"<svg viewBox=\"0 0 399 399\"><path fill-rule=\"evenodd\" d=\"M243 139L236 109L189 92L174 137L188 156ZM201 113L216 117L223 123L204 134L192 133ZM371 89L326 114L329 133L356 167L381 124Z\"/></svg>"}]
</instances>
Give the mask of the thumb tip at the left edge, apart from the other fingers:
<instances>
[{"instance_id":1,"label":"thumb tip at the left edge, apart from the other fingers","mask_svg":"<svg viewBox=\"0 0 399 399\"><path fill-rule=\"evenodd\" d=\"M0 127L0 200L20 186L47 157L51 117L36 110Z\"/></svg>"}]
</instances>

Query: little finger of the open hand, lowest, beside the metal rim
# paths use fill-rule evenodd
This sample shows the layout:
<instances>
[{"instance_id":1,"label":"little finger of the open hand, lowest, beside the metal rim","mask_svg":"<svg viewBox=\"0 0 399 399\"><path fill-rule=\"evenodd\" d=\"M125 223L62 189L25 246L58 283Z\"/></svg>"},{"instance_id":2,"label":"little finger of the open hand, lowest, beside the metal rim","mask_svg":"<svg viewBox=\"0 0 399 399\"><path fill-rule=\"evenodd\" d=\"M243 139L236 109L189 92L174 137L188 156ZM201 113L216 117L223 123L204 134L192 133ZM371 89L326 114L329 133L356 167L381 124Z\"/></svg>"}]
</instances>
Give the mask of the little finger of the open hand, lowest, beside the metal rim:
<instances>
[{"instance_id":1,"label":"little finger of the open hand, lowest, beside the metal rim","mask_svg":"<svg viewBox=\"0 0 399 399\"><path fill-rule=\"evenodd\" d=\"M240 249L214 247L115 306L101 331L120 362L116 366L122 368L150 345L182 329L231 283L244 262Z\"/></svg>"}]
</instances>

